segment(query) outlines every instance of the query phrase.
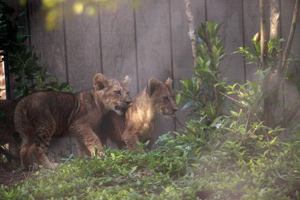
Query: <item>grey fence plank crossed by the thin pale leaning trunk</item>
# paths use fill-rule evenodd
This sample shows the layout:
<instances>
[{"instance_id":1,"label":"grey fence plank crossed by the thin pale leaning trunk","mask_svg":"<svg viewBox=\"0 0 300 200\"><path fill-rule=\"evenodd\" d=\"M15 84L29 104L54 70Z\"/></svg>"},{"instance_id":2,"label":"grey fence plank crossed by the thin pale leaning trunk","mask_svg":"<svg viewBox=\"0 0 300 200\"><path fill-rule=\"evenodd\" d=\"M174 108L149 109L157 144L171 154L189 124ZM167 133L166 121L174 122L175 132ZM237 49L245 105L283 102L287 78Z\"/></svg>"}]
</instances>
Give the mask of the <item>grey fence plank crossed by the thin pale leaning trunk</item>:
<instances>
[{"instance_id":1,"label":"grey fence plank crossed by the thin pale leaning trunk","mask_svg":"<svg viewBox=\"0 0 300 200\"><path fill-rule=\"evenodd\" d=\"M205 3L204 0L191 0L192 13L194 15L195 25L205 21ZM171 33L172 33L172 53L173 53L173 73L174 87L182 88L179 80L191 78L194 70L191 44L188 36L189 26L186 16L186 8L183 0L170 0L171 13ZM180 105L180 109L182 105ZM176 115L179 121L184 122L190 119L185 116L189 113L188 109L177 111ZM182 128L176 123L176 128Z\"/></svg>"}]
</instances>

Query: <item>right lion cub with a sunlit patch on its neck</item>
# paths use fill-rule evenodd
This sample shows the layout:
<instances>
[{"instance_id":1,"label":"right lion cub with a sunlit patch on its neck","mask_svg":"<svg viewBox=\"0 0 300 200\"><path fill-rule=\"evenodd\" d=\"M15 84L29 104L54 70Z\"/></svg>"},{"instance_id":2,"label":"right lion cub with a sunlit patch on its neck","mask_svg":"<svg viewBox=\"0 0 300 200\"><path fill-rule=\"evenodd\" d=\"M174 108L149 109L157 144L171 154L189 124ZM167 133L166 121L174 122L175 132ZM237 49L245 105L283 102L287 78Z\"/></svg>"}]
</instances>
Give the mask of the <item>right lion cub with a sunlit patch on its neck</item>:
<instances>
[{"instance_id":1,"label":"right lion cub with a sunlit patch on its neck","mask_svg":"<svg viewBox=\"0 0 300 200\"><path fill-rule=\"evenodd\" d=\"M118 148L133 150L137 145L136 141L144 143L149 140L146 147L150 149L156 130L156 115L170 116L178 110L173 100L171 84L170 78L165 83L156 78L149 79L146 88L134 97L124 115L109 112L103 118L98 133L101 141L106 142L108 136Z\"/></svg>"}]
</instances>

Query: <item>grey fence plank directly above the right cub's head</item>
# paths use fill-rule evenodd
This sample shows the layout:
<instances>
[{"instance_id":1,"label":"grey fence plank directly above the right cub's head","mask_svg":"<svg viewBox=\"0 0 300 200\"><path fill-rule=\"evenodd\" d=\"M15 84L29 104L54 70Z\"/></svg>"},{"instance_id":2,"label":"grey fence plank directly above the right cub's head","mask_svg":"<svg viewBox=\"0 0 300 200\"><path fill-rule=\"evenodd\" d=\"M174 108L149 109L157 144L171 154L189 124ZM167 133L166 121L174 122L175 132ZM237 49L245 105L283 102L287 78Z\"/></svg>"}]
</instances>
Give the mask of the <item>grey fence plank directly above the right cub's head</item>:
<instances>
[{"instance_id":1,"label":"grey fence plank directly above the right cub's head","mask_svg":"<svg viewBox=\"0 0 300 200\"><path fill-rule=\"evenodd\" d=\"M135 17L138 87L142 90L151 77L165 81L172 75L168 0L143 1ZM155 140L173 129L172 119L158 116Z\"/></svg>"}]
</instances>

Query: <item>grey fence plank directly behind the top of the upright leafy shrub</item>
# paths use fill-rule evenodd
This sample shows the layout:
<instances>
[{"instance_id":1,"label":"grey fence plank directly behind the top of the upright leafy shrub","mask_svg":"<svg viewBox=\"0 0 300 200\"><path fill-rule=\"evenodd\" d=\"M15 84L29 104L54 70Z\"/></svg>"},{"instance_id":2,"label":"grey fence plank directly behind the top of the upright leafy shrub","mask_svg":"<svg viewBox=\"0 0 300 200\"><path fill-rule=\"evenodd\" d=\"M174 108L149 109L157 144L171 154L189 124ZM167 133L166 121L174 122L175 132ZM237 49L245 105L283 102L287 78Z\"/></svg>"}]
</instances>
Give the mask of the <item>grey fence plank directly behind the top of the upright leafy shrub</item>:
<instances>
[{"instance_id":1,"label":"grey fence plank directly behind the top of the upright leafy shrub","mask_svg":"<svg viewBox=\"0 0 300 200\"><path fill-rule=\"evenodd\" d=\"M231 54L242 46L242 3L241 0L207 0L207 20L222 22L219 34L224 35L223 46L227 48L227 57L220 68L223 77L230 83L244 82L244 67L240 54Z\"/></svg>"}]
</instances>

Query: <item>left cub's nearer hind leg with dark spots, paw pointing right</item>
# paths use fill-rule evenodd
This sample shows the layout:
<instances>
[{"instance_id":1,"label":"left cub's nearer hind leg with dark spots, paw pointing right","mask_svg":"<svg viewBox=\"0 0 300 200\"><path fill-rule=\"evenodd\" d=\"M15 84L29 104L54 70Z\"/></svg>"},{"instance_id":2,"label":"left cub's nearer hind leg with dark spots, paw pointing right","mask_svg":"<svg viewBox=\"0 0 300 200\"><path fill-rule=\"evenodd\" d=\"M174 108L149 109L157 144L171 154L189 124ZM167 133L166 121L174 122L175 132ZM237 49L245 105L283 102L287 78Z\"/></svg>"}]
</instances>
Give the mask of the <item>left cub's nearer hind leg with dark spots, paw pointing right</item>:
<instances>
[{"instance_id":1,"label":"left cub's nearer hind leg with dark spots, paw pointing right","mask_svg":"<svg viewBox=\"0 0 300 200\"><path fill-rule=\"evenodd\" d=\"M46 150L49 146L50 138L55 131L55 121L52 116L40 119L35 124L35 138L30 146L30 150L39 165L46 169L55 169L58 163L50 162L46 156Z\"/></svg>"}]
</instances>

